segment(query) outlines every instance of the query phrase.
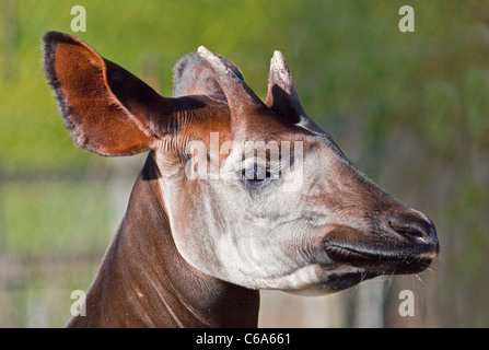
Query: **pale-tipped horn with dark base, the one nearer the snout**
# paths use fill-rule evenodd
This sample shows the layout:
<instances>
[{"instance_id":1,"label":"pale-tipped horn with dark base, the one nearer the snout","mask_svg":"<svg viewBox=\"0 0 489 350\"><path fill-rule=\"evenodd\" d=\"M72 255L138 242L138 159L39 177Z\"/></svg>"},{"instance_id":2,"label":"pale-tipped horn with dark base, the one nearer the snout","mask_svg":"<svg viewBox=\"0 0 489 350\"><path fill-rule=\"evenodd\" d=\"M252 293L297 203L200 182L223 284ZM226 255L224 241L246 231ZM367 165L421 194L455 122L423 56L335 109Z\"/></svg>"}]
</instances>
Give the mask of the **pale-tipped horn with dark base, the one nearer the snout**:
<instances>
[{"instance_id":1,"label":"pale-tipped horn with dark base, the one nearer the snout","mask_svg":"<svg viewBox=\"0 0 489 350\"><path fill-rule=\"evenodd\" d=\"M312 132L324 131L305 114L292 81L292 73L286 57L275 51L270 61L268 77L268 94L265 104L276 114L286 118L289 124L299 125Z\"/></svg>"}]
</instances>

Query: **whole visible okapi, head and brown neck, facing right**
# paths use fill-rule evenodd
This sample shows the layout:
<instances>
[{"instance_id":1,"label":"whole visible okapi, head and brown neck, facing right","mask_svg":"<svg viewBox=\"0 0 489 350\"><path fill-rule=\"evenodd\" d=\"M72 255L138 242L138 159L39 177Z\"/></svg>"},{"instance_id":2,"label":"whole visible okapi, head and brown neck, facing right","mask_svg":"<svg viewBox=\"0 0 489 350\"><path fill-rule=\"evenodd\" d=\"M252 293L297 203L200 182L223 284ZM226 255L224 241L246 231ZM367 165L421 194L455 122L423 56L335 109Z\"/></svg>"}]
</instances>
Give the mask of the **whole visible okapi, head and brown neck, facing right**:
<instances>
[{"instance_id":1,"label":"whole visible okapi, head and brown neck, facing right","mask_svg":"<svg viewBox=\"0 0 489 350\"><path fill-rule=\"evenodd\" d=\"M265 103L205 47L176 65L171 98L68 34L46 33L43 52L77 147L149 151L86 315L68 327L256 327L260 289L331 293L436 257L430 219L307 117L280 51Z\"/></svg>"}]
</instances>

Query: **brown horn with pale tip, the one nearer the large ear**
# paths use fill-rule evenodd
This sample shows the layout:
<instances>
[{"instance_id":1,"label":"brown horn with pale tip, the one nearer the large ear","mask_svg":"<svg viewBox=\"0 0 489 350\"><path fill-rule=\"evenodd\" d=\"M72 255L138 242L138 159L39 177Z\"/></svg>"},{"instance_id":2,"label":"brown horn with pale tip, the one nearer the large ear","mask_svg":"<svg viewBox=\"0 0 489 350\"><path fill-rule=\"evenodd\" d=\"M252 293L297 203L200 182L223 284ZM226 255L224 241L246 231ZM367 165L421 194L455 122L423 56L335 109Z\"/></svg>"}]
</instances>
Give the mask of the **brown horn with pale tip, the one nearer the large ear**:
<instances>
[{"instance_id":1,"label":"brown horn with pale tip, the one nearer the large ear","mask_svg":"<svg viewBox=\"0 0 489 350\"><path fill-rule=\"evenodd\" d=\"M219 56L203 46L200 46L197 52L212 70L232 113L240 114L249 106L263 105L263 102L255 95L252 89L228 68Z\"/></svg>"}]
</instances>

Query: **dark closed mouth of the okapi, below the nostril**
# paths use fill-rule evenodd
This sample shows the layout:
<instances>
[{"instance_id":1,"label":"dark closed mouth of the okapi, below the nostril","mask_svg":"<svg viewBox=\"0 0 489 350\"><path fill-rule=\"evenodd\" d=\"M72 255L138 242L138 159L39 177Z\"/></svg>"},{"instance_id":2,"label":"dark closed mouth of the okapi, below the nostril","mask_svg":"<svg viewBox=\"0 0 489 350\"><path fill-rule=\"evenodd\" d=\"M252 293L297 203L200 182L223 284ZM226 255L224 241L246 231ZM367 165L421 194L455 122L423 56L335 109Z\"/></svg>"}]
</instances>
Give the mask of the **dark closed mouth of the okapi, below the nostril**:
<instances>
[{"instance_id":1,"label":"dark closed mouth of the okapi, below the nostril","mask_svg":"<svg viewBox=\"0 0 489 350\"><path fill-rule=\"evenodd\" d=\"M342 265L362 268L374 275L408 275L426 270L435 253L412 254L408 252L372 252L328 242L325 244L328 257Z\"/></svg>"}]
</instances>

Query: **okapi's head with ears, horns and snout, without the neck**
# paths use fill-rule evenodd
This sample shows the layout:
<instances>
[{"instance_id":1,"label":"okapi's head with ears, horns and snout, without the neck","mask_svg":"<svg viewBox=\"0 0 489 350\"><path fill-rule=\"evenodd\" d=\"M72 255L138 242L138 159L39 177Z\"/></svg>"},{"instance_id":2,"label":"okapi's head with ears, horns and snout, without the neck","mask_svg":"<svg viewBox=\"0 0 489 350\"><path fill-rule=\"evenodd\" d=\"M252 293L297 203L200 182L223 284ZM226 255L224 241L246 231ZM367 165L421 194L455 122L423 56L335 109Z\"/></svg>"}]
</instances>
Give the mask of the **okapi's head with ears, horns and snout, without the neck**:
<instances>
[{"instance_id":1,"label":"okapi's head with ears, horns and snout, without the neck","mask_svg":"<svg viewBox=\"0 0 489 350\"><path fill-rule=\"evenodd\" d=\"M307 117L281 52L264 103L203 47L177 63L168 98L79 38L50 32L44 43L75 145L150 151L177 252L205 275L318 294L419 272L438 255L430 219L359 172Z\"/></svg>"}]
</instances>

